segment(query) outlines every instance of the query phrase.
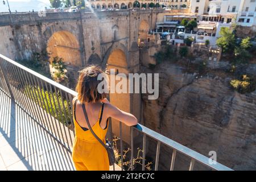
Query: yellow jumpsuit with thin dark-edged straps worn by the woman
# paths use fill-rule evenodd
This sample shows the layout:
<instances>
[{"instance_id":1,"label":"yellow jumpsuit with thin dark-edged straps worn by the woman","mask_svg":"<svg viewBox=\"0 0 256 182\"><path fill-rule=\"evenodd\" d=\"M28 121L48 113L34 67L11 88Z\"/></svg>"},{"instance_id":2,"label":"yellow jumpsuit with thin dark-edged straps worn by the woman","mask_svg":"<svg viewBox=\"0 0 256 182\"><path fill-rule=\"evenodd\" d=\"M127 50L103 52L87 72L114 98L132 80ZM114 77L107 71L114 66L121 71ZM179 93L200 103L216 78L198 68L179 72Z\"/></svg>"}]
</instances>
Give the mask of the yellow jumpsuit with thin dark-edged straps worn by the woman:
<instances>
[{"instance_id":1,"label":"yellow jumpsuit with thin dark-edged straps worn by the woman","mask_svg":"<svg viewBox=\"0 0 256 182\"><path fill-rule=\"evenodd\" d=\"M103 105L102 105L103 106ZM100 127L101 110L98 114L98 121L92 126L94 133L104 143L108 130ZM74 107L73 107L74 108ZM75 142L73 143L72 159L77 171L109 171L109 157L106 148L93 136L90 130L84 131L75 119L73 110L73 120L75 125Z\"/></svg>"}]
</instances>

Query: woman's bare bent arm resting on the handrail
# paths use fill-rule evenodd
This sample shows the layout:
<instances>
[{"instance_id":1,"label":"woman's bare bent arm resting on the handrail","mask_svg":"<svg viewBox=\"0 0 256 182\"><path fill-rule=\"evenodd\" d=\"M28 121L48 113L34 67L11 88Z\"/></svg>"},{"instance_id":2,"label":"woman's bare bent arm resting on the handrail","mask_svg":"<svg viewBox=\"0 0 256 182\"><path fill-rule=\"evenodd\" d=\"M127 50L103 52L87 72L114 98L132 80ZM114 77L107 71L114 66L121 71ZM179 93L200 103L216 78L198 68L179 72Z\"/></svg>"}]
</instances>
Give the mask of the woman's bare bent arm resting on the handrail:
<instances>
[{"instance_id":1,"label":"woman's bare bent arm resting on the handrail","mask_svg":"<svg viewBox=\"0 0 256 182\"><path fill-rule=\"evenodd\" d=\"M118 121L125 123L127 126L134 126L138 123L137 118L133 114L122 111L110 103L105 103L105 108L108 110L106 112L108 113L108 117L117 119Z\"/></svg>"}]
</instances>

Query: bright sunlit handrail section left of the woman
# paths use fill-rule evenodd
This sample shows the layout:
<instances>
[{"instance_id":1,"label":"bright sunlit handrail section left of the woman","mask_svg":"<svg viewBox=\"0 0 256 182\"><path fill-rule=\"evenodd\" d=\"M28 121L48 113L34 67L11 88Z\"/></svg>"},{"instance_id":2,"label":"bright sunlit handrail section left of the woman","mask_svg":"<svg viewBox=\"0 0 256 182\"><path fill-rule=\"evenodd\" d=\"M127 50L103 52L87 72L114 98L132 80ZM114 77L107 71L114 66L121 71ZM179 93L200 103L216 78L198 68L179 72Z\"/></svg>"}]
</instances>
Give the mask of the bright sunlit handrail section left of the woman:
<instances>
[{"instance_id":1,"label":"bright sunlit handrail section left of the woman","mask_svg":"<svg viewBox=\"0 0 256 182\"><path fill-rule=\"evenodd\" d=\"M39 74L39 73L36 73L35 71L32 71L32 69L30 69L30 68L24 67L22 64L19 64L19 63L17 63L16 61L11 60L10 58L8 58L8 57L2 55L1 53L0 53L0 57L2 57L3 59L5 59L5 60L8 61L9 63L16 65L16 66L19 67L20 69L23 69L24 71L26 71L26 72L28 72L28 73L31 73L32 75L34 75L34 76L36 76L36 77L41 78L42 80L48 82L49 84L52 84L53 86L56 86L57 88L59 88L59 89L65 91L65 92L67 92L67 93L69 93L69 94L72 94L73 96L77 96L77 92L75 92L74 90L71 90L71 89L67 88L66 86L63 86L63 85L61 85L61 84L59 84L59 83L57 83L57 82L55 82L55 81L53 81L53 80L47 78L46 76L43 76L43 75L41 75L41 74Z\"/></svg>"}]
</instances>

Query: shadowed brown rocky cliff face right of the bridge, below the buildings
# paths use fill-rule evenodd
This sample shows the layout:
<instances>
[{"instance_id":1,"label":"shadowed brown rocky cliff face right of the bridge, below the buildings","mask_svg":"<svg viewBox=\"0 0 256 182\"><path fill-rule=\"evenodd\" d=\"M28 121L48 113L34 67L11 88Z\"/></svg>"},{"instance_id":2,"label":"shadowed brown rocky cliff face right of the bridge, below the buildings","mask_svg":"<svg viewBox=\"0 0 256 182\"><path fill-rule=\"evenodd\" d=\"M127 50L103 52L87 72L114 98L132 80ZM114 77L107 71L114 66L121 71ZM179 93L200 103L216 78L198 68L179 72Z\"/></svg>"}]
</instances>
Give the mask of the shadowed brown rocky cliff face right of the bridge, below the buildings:
<instances>
[{"instance_id":1,"label":"shadowed brown rocky cliff face right of the bridge, below the buildings","mask_svg":"<svg viewBox=\"0 0 256 182\"><path fill-rule=\"evenodd\" d=\"M234 92L230 78L197 78L170 63L154 72L160 77L159 98L143 97L144 125L205 156L216 151L217 162L230 168L256 169L256 92ZM163 148L161 168L170 169L170 160ZM176 164L187 169L189 160Z\"/></svg>"}]
</instances>

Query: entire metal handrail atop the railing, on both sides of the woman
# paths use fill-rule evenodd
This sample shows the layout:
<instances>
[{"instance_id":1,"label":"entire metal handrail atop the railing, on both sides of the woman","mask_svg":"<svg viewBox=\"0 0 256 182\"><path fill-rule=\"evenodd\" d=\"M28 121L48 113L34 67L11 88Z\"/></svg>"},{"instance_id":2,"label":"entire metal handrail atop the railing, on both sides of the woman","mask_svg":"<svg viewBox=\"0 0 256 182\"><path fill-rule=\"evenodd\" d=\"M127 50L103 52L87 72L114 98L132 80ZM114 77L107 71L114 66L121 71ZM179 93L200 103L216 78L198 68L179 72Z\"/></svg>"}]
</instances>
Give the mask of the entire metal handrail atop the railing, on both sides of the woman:
<instances>
[{"instance_id":1,"label":"entire metal handrail atop the railing, on both sides of the woman","mask_svg":"<svg viewBox=\"0 0 256 182\"><path fill-rule=\"evenodd\" d=\"M67 92L69 94L71 94L72 96L77 96L77 92L67 88L66 86L63 86L43 75L40 75L39 73L36 73L35 71L32 71L31 69L24 67L23 65L16 63L15 61L9 59L6 56L3 56L2 54L0 54L0 57L2 57L2 59L8 61L9 63L15 65L16 67L19 67L20 69L23 69L24 71L31 73L32 75L39 77L40 79L42 79L43 81L48 82L49 84L52 84L53 86L56 86L56 88L59 88L61 90L63 90L64 92ZM1 61L1 59L0 59ZM166 146L171 147L172 149L180 152L181 154L184 154L186 156L189 156L189 158L191 159L195 159L197 162L204 164L205 166L212 168L212 169L216 169L216 170L220 170L220 171L233 171L233 169L226 167L218 162L216 162L216 164L209 164L209 158L207 158L207 156L204 156L202 154L200 154L199 152L196 152L188 147L183 146L180 143L175 142L174 140L165 137L162 134L157 133L154 130L149 129L146 126L143 126L141 124L138 124L136 126L133 126L133 129L138 130L139 132L148 135L149 137L157 140L160 143L166 144ZM133 130L131 129L131 130Z\"/></svg>"}]
</instances>

